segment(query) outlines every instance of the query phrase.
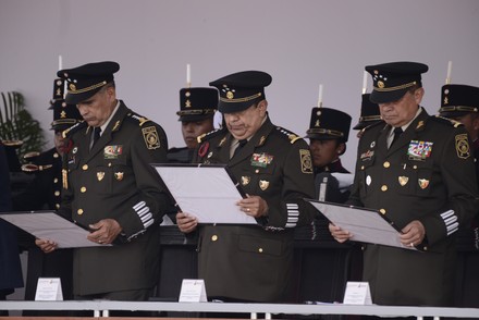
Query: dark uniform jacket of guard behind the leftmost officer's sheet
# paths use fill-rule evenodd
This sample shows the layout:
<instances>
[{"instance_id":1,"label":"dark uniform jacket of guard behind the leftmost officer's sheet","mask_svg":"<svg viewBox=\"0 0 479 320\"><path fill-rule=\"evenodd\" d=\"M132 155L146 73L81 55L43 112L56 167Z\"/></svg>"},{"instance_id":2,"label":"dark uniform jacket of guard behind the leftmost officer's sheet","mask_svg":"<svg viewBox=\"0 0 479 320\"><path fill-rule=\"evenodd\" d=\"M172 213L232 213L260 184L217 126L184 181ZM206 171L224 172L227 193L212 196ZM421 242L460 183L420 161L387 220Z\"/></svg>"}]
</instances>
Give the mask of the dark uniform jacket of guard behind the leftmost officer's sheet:
<instances>
[{"instance_id":1,"label":"dark uniform jacket of guard behind the leftmost officer's sheet","mask_svg":"<svg viewBox=\"0 0 479 320\"><path fill-rule=\"evenodd\" d=\"M61 204L62 160L56 148L38 156L35 164L41 170L35 172L35 177L27 188L13 197L13 209L24 210L58 210Z\"/></svg>"}]
</instances>

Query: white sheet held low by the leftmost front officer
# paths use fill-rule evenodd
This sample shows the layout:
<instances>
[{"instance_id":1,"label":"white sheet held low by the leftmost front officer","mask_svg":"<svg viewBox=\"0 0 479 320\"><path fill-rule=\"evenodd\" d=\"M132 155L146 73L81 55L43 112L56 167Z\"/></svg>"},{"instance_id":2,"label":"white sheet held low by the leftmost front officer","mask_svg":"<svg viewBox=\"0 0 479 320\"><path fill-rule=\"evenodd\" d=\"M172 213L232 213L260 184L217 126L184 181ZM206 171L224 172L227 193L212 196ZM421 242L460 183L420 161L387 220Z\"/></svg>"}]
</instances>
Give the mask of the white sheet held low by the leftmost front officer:
<instances>
[{"instance_id":1,"label":"white sheet held low by the leftmost front officer","mask_svg":"<svg viewBox=\"0 0 479 320\"><path fill-rule=\"evenodd\" d=\"M106 246L90 242L88 231L52 211L0 213L0 218L37 238L56 242L59 248Z\"/></svg>"}]
</instances>

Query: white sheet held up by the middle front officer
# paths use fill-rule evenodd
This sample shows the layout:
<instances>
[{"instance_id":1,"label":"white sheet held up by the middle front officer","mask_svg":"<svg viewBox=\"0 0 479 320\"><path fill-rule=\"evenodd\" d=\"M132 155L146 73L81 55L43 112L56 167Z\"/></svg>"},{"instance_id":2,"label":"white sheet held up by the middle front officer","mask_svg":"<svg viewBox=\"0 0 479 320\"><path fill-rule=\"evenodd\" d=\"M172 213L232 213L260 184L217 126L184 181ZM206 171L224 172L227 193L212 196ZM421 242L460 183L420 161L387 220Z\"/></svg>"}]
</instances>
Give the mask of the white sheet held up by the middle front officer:
<instances>
[{"instance_id":1,"label":"white sheet held up by the middle front officer","mask_svg":"<svg viewBox=\"0 0 479 320\"><path fill-rule=\"evenodd\" d=\"M235 204L243 198L226 167L152 164L181 211L198 223L257 224Z\"/></svg>"}]
</instances>

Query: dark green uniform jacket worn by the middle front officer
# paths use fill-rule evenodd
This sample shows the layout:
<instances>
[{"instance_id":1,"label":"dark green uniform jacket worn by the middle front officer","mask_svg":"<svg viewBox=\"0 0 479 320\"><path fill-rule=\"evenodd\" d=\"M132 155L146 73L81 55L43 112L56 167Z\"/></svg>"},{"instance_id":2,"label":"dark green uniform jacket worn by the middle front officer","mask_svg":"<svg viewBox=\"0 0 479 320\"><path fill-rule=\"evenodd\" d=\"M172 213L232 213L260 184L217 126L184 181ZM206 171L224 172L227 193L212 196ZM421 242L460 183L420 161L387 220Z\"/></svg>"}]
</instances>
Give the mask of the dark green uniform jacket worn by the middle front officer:
<instances>
[{"instance_id":1,"label":"dark green uniform jacket worn by the middle front officer","mask_svg":"<svg viewBox=\"0 0 479 320\"><path fill-rule=\"evenodd\" d=\"M310 222L314 208L303 198L315 193L307 144L268 119L230 159L226 131L205 137L194 162L226 163L245 193L268 202L258 225L204 225L199 239L199 278L208 297L279 301L293 261L293 230Z\"/></svg>"}]
</instances>

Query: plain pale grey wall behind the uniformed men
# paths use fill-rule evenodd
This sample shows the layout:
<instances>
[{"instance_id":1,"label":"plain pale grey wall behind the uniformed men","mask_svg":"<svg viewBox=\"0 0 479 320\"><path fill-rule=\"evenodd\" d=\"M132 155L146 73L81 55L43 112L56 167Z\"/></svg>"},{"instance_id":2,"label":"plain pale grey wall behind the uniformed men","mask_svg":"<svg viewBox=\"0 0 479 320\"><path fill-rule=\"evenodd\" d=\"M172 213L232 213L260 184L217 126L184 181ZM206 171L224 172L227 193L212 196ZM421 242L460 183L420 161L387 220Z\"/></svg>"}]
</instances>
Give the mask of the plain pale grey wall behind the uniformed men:
<instances>
[{"instance_id":1,"label":"plain pale grey wall behind the uniformed men","mask_svg":"<svg viewBox=\"0 0 479 320\"><path fill-rule=\"evenodd\" d=\"M63 67L114 60L119 97L180 147L175 112L186 63L193 86L256 69L273 76L272 121L303 135L319 84L323 106L356 123L367 64L427 63L430 113L449 60L454 83L479 86L478 17L477 0L0 0L0 90L23 93L48 130L58 56ZM352 170L355 132L349 139L343 162Z\"/></svg>"}]
</instances>

